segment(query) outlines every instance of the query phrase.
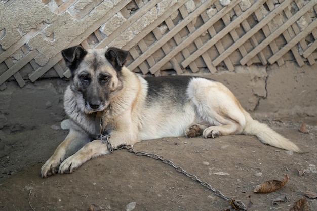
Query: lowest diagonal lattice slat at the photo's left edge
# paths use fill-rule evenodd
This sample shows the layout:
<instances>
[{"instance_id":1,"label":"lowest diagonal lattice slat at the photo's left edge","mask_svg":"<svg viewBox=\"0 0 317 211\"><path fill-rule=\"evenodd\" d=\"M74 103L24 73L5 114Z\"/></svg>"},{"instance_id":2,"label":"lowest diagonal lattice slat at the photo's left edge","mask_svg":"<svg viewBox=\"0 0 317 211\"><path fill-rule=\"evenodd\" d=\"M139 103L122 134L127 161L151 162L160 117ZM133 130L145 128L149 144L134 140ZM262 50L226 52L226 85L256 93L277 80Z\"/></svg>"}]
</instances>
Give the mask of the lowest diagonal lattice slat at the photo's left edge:
<instances>
[{"instance_id":1,"label":"lowest diagonal lattice slat at the photo's left edge","mask_svg":"<svg viewBox=\"0 0 317 211\"><path fill-rule=\"evenodd\" d=\"M31 61L38 54L37 50L32 50L30 53L25 55L22 59L19 60L16 64L10 67L6 72L0 75L0 85L8 80L13 74L18 72L22 67L24 67L29 61Z\"/></svg>"}]
</instances>

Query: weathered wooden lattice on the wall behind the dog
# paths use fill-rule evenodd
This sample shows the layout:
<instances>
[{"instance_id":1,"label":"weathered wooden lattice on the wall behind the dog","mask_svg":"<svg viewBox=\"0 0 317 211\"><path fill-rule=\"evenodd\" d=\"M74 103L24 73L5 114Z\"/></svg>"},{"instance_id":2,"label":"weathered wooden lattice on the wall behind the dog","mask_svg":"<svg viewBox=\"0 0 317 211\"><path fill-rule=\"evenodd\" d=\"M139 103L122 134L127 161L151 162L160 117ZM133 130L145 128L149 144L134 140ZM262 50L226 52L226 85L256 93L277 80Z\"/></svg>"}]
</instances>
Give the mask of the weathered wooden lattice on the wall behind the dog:
<instances>
[{"instance_id":1,"label":"weathered wooden lattice on the wall behind the dog","mask_svg":"<svg viewBox=\"0 0 317 211\"><path fill-rule=\"evenodd\" d=\"M51 1L58 5L54 10L56 14L67 12L79 2L42 2L49 4ZM12 2L7 1L4 6L8 7ZM72 18L82 19L101 2L91 1ZM142 30L132 31L132 26L142 24L140 20L159 3L160 0L118 1L103 17L83 26L86 27L84 32L63 48L74 45L106 48L117 44L114 41L117 37L133 33L133 38L120 46L130 52L127 67L155 76L168 69L182 74L185 68L193 73L208 68L214 74L219 71L219 66L222 70L225 66L234 71L234 65L276 62L281 66L286 60L295 60L299 66L305 62L315 63L317 0L242 0L231 1L227 6L222 6L218 0L178 0ZM105 34L102 27L114 16L124 17L125 21ZM26 80L70 77L60 53L42 66L34 60L41 52L30 49L28 42L47 25L46 22L37 24L14 45L0 49L0 89L6 87L8 80L16 80L23 87ZM3 30L0 27L0 32ZM69 31L71 35L72 31ZM20 52L18 58L17 52Z\"/></svg>"}]
</instances>

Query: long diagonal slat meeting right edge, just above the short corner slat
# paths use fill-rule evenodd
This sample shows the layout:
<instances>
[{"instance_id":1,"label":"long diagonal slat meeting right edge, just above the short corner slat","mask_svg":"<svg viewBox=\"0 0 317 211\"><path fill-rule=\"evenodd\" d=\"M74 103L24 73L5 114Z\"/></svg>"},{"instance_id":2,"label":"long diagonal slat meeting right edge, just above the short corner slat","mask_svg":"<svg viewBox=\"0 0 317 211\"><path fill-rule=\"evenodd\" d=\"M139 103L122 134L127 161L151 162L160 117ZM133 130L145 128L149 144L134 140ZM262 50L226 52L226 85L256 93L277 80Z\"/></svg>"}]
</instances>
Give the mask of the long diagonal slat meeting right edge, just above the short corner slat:
<instances>
[{"instance_id":1,"label":"long diagonal slat meeting right edge, just above the short corner slat","mask_svg":"<svg viewBox=\"0 0 317 211\"><path fill-rule=\"evenodd\" d=\"M317 19L315 19L311 24L309 24L302 32L300 32L296 37L289 41L282 49L280 49L274 56L268 59L270 64L273 64L277 59L282 57L286 52L288 52L293 46L295 46L303 37L306 37L311 33L311 30L317 27Z\"/></svg>"}]
</instances>

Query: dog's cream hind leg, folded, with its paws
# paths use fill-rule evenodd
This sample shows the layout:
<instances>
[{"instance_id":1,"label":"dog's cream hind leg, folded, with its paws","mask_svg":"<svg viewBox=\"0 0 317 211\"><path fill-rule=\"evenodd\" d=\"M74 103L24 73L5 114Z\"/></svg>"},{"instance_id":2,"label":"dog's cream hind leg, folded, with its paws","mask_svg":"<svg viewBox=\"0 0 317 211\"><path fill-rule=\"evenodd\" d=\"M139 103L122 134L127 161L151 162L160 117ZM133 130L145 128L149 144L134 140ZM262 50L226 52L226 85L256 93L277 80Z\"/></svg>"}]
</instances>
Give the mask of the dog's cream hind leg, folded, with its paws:
<instances>
[{"instance_id":1,"label":"dog's cream hind leg, folded, with its paws","mask_svg":"<svg viewBox=\"0 0 317 211\"><path fill-rule=\"evenodd\" d=\"M197 119L212 125L205 128L201 125L190 126L186 130L188 137L202 133L205 138L216 138L243 132L246 125L244 110L221 83L194 78L189 83L187 95L196 108Z\"/></svg>"}]
</instances>

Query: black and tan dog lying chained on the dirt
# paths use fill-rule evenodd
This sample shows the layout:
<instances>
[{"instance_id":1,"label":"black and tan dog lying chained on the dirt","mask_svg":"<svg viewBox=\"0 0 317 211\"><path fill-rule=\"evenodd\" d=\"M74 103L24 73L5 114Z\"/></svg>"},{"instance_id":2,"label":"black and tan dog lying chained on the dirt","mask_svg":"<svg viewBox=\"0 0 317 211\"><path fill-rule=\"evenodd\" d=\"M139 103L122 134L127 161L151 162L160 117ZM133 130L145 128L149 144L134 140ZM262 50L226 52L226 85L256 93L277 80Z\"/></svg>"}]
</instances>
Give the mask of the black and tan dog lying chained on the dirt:
<instances>
[{"instance_id":1,"label":"black and tan dog lying chained on the dirt","mask_svg":"<svg viewBox=\"0 0 317 211\"><path fill-rule=\"evenodd\" d=\"M72 75L64 93L70 131L42 166L42 177L71 173L112 148L162 137L255 135L265 144L300 152L293 142L252 119L220 82L193 76L142 77L124 66L128 52L114 47L75 46L62 56Z\"/></svg>"}]
</instances>

